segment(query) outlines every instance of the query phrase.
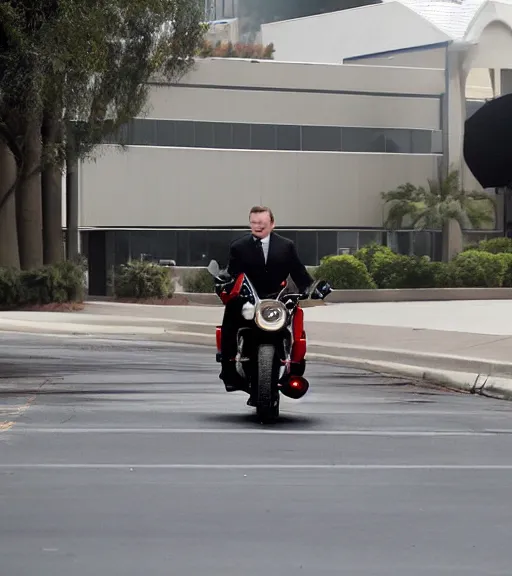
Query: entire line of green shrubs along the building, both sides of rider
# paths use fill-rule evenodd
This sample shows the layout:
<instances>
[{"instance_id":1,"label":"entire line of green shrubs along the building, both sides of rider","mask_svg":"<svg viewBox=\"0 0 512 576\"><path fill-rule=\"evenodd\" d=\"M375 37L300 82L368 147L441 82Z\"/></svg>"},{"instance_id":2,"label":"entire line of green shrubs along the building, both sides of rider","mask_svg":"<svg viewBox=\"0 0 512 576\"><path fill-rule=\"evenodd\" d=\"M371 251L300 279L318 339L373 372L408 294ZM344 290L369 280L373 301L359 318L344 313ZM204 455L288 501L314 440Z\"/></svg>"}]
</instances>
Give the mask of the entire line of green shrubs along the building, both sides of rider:
<instances>
[{"instance_id":1,"label":"entire line of green shrubs along the building, both sides of rider","mask_svg":"<svg viewBox=\"0 0 512 576\"><path fill-rule=\"evenodd\" d=\"M377 288L512 287L512 240L496 238L468 246L451 262L395 254L371 244L352 255L326 256L313 276L327 280L337 290ZM62 262L37 270L0 268L0 308L82 302L83 265ZM121 266L112 287L117 298L167 299L174 294L172 269L132 261ZM213 279L205 269L182 279L185 292L212 293Z\"/></svg>"}]
</instances>

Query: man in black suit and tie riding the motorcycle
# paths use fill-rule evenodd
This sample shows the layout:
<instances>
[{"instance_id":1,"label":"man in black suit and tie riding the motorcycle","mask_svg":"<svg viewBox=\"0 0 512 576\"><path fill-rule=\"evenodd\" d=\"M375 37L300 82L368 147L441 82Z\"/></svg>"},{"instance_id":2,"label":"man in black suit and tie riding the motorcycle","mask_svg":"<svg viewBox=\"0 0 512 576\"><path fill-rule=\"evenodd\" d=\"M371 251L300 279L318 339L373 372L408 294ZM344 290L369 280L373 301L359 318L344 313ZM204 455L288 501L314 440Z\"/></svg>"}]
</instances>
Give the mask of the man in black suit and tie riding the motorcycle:
<instances>
[{"instance_id":1,"label":"man in black suit and tie riding the motorcycle","mask_svg":"<svg viewBox=\"0 0 512 576\"><path fill-rule=\"evenodd\" d=\"M245 273L260 298L276 294L282 283L291 276L300 293L305 293L313 283L304 264L300 261L295 244L276 234L274 215L266 206L254 206L249 213L251 234L232 242L227 272L232 278ZM242 379L236 370L237 332L243 324L241 305L230 302L224 309L222 321L222 371L228 392L240 389Z\"/></svg>"}]
</instances>

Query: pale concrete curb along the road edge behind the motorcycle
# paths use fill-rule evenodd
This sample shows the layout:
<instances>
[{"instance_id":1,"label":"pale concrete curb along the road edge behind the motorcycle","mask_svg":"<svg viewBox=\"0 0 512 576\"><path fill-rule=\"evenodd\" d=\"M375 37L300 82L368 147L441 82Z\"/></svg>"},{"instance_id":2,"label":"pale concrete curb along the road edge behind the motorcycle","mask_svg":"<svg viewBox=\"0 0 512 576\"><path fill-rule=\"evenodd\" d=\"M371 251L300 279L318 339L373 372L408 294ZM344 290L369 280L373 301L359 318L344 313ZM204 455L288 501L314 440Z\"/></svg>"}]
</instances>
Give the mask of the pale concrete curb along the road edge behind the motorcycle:
<instances>
[{"instance_id":1,"label":"pale concrete curb along the road edge behind the motorcycle","mask_svg":"<svg viewBox=\"0 0 512 576\"><path fill-rule=\"evenodd\" d=\"M211 326L205 327L211 328ZM98 326L91 324L73 324L70 326L55 322L41 324L28 321L11 321L4 323L2 320L0 331L74 337L105 338L110 336L115 337L116 340L140 340L143 338L160 343L215 346L213 330L212 333L208 334L199 331L166 330L161 327ZM397 361L398 358L401 361ZM485 359L406 350L315 342L311 342L309 345L307 359L387 376L410 378L419 384L422 382L437 384L460 392L512 400L512 363L498 363ZM445 367L441 367L443 363ZM435 366L435 368L431 366ZM497 371L499 372L497 373Z\"/></svg>"}]
</instances>

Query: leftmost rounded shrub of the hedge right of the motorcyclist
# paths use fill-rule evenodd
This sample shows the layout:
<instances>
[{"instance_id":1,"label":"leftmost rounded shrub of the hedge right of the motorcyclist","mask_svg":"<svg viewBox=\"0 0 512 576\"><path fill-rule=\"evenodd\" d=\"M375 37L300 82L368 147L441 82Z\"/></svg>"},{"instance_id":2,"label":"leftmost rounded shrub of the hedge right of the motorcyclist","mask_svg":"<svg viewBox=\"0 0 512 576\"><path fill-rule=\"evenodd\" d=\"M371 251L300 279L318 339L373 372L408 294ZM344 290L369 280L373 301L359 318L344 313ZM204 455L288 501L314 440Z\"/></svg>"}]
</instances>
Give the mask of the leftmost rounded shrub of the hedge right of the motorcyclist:
<instances>
[{"instance_id":1,"label":"leftmost rounded shrub of the hedge right of the motorcyclist","mask_svg":"<svg viewBox=\"0 0 512 576\"><path fill-rule=\"evenodd\" d=\"M376 287L366 266L348 254L323 258L315 276L329 282L335 290L369 290Z\"/></svg>"}]
</instances>

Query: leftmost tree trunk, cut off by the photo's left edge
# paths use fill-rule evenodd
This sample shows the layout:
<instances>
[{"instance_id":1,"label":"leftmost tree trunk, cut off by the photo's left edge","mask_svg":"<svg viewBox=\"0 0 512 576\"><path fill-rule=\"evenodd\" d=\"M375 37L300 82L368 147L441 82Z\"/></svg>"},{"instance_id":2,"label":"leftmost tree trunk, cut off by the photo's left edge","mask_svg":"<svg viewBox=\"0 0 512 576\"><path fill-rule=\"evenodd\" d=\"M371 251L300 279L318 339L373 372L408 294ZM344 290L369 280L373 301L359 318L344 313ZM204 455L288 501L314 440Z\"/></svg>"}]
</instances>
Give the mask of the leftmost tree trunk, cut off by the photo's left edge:
<instances>
[{"instance_id":1,"label":"leftmost tree trunk, cut off by the photo's left edge","mask_svg":"<svg viewBox=\"0 0 512 576\"><path fill-rule=\"evenodd\" d=\"M16 162L0 140L0 202L16 182ZM16 227L16 198L11 194L0 210L0 266L20 267Z\"/></svg>"}]
</instances>

